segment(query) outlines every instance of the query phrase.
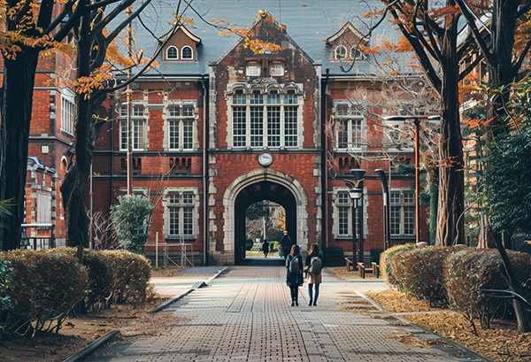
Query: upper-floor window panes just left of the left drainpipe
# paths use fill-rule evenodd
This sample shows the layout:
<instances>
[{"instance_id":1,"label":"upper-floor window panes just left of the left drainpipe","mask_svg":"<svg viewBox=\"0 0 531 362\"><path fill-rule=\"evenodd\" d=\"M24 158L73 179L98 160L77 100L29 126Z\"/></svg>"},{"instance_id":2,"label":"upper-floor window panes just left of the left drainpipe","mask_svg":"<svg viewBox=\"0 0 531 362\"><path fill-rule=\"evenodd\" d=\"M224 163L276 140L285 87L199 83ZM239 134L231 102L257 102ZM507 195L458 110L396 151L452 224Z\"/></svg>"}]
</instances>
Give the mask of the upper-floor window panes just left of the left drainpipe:
<instances>
[{"instance_id":1,"label":"upper-floor window panes just left of the left drainpipe","mask_svg":"<svg viewBox=\"0 0 531 362\"><path fill-rule=\"evenodd\" d=\"M194 148L195 107L193 104L173 104L168 107L168 148L192 150Z\"/></svg>"}]
</instances>

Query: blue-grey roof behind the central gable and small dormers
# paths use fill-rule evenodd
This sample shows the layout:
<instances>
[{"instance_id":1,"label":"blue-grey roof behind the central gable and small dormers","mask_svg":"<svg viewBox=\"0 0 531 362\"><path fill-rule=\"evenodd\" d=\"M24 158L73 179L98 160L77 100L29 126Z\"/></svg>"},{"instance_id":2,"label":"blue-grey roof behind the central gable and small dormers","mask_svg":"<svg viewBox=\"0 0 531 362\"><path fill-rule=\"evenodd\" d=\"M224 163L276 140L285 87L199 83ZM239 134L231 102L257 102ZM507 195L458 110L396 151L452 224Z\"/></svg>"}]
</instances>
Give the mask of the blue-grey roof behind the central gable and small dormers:
<instances>
[{"instance_id":1,"label":"blue-grey roof behind the central gable and small dormers","mask_svg":"<svg viewBox=\"0 0 531 362\"><path fill-rule=\"evenodd\" d=\"M139 6L136 4L134 6ZM344 73L339 62L333 57L333 50L327 41L345 31L345 24L358 33L363 34L366 29L363 14L372 9L381 9L380 0L194 0L191 3L194 11L187 9L183 18L194 19L194 25L188 23L183 28L190 33L201 35L201 47L197 47L196 61L193 62L165 62L158 61L158 72L153 71L153 76L201 76L209 73L209 63L216 62L230 50L235 43L241 41L237 35L220 35L227 27L251 27L258 17L258 11L266 10L273 18L286 27L289 39L296 43L315 63L322 64L322 72L329 69L331 76L352 77L377 73L377 69L366 60L357 61L356 67ZM171 5L170 5L171 6ZM173 12L168 11L168 2L152 0L146 8L146 13L141 15L142 22L150 28L155 36L167 35L174 20ZM386 39L396 42L399 32L394 31L396 26L388 21L373 31L373 40ZM135 27L135 40L137 49L144 50L148 56L153 54L158 46L158 37L154 38L140 24ZM350 28L350 27L349 27ZM343 29L343 30L342 30ZM350 31L350 30L349 30ZM407 56L409 58L409 56ZM149 75L149 74L148 74Z\"/></svg>"}]
</instances>

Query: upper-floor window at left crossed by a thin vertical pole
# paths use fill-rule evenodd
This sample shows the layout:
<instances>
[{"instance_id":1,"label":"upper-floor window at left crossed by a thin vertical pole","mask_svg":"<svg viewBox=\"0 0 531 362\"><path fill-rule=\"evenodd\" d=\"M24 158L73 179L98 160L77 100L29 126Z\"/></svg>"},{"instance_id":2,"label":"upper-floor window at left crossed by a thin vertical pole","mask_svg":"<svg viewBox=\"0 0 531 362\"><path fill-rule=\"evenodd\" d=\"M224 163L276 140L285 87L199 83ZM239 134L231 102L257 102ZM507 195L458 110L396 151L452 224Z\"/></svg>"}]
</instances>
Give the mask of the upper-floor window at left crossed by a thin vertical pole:
<instances>
[{"instance_id":1,"label":"upper-floor window at left crossed by a thin vertical pole","mask_svg":"<svg viewBox=\"0 0 531 362\"><path fill-rule=\"evenodd\" d=\"M120 108L119 112L120 150L127 150L127 104ZM133 150L146 150L148 143L147 119L143 105L131 106L131 146Z\"/></svg>"}]
</instances>

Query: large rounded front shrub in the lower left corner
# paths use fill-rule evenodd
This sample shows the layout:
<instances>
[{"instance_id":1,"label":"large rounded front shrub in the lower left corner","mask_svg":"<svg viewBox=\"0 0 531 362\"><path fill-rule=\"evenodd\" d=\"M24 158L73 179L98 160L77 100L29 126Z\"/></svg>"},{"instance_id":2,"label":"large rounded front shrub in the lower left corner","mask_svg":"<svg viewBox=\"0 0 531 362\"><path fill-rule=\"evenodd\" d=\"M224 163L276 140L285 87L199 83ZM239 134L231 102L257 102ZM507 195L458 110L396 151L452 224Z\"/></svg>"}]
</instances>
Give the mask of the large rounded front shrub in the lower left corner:
<instances>
[{"instance_id":1,"label":"large rounded front shrub in the lower left corner","mask_svg":"<svg viewBox=\"0 0 531 362\"><path fill-rule=\"evenodd\" d=\"M58 250L12 250L2 254L12 265L12 308L5 327L25 333L56 331L88 288L88 273Z\"/></svg>"}]
</instances>

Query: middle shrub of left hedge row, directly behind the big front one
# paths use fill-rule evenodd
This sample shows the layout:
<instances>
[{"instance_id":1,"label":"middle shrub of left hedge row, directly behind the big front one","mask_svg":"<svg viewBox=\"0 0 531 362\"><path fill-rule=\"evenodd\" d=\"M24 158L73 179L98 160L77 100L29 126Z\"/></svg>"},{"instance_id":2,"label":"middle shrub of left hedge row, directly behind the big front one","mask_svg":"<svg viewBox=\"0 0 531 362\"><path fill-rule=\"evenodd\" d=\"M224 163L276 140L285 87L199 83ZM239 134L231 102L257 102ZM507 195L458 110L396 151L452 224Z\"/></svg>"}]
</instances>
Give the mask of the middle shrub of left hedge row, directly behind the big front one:
<instances>
[{"instance_id":1,"label":"middle shrub of left hedge row, directly behind the big front one","mask_svg":"<svg viewBox=\"0 0 531 362\"><path fill-rule=\"evenodd\" d=\"M76 249L62 248L62 252L75 257ZM83 250L83 266L89 271L89 290L85 298L85 305L89 310L102 308L105 301L111 297L114 279L110 258L102 251Z\"/></svg>"}]
</instances>

